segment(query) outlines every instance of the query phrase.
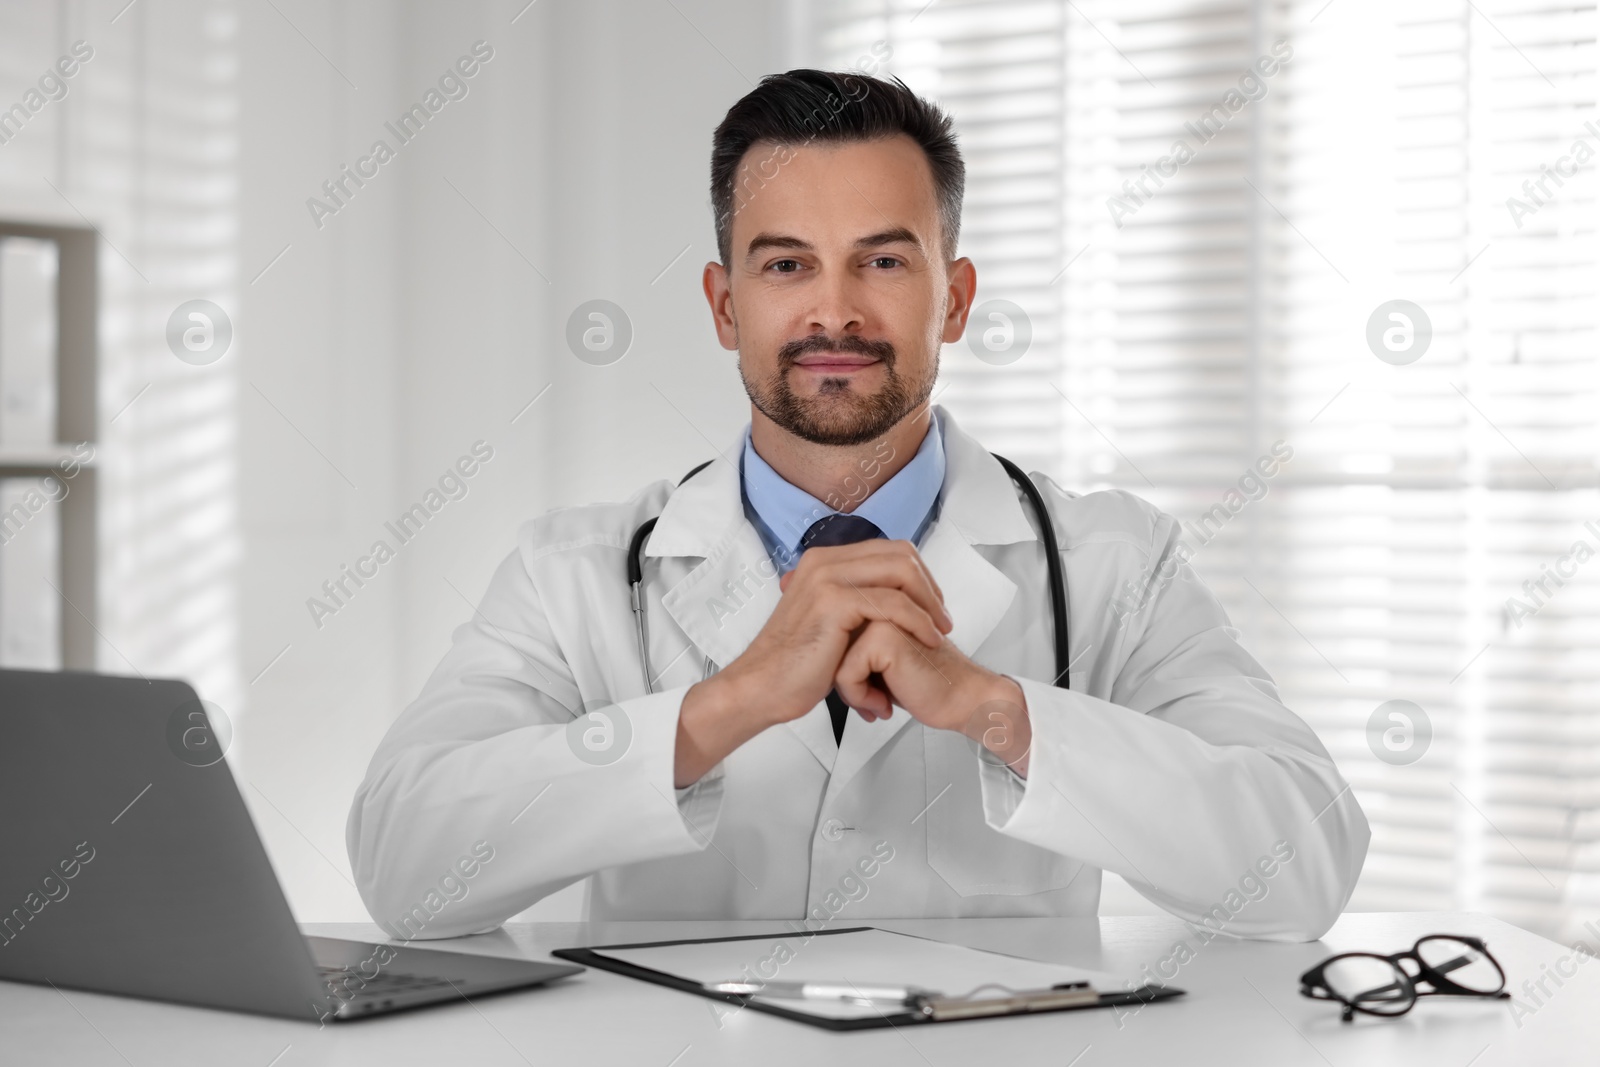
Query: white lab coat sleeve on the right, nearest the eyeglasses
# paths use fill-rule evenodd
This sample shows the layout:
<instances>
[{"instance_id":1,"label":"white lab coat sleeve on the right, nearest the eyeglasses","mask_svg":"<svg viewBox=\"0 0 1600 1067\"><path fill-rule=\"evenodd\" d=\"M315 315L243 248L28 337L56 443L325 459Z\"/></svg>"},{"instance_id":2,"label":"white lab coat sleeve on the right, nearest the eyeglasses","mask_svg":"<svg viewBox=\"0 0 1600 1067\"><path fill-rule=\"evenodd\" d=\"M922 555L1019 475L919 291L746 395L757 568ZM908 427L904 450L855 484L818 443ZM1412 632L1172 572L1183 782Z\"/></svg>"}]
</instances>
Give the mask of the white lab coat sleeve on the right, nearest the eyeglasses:
<instances>
[{"instance_id":1,"label":"white lab coat sleeve on the right, nearest the eyeglasses","mask_svg":"<svg viewBox=\"0 0 1600 1067\"><path fill-rule=\"evenodd\" d=\"M1366 817L1238 645L1168 515L1150 558L1149 600L1120 622L1128 653L1110 699L1016 678L1034 729L1029 773L984 761L986 821L1112 870L1190 923L1315 941L1355 888Z\"/></svg>"}]
</instances>

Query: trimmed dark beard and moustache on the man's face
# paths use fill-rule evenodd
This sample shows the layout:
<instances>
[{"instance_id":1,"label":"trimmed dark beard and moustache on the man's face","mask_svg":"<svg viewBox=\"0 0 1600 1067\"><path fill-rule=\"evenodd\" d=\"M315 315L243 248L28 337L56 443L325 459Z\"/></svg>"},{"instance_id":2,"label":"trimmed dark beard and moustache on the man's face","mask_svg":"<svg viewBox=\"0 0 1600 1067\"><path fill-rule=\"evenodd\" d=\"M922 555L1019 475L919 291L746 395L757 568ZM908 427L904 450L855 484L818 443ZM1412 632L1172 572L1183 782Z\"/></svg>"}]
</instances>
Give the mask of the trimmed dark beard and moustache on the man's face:
<instances>
[{"instance_id":1,"label":"trimmed dark beard and moustache on the man's face","mask_svg":"<svg viewBox=\"0 0 1600 1067\"><path fill-rule=\"evenodd\" d=\"M875 357L883 366L883 386L861 394L850 378L824 378L814 397L789 387L795 360L810 352L851 352ZM864 445L888 434L933 395L939 376L939 352L923 381L909 382L896 370L894 346L854 334L832 341L811 334L778 349L778 370L763 381L752 381L739 365L739 379L755 410L789 434L813 445Z\"/></svg>"}]
</instances>

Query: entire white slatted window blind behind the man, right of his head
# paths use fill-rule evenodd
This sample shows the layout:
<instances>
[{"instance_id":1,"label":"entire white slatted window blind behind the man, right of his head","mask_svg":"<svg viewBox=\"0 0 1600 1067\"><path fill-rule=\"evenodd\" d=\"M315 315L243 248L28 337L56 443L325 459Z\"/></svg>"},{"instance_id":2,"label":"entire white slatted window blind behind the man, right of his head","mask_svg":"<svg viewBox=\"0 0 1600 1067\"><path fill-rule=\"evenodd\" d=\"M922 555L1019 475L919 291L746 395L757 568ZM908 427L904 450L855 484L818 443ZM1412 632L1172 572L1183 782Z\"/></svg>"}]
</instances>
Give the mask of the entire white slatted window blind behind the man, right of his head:
<instances>
[{"instance_id":1,"label":"entire white slatted window blind behind the man, right of his head","mask_svg":"<svg viewBox=\"0 0 1600 1067\"><path fill-rule=\"evenodd\" d=\"M886 70L955 114L979 307L1034 318L1014 363L947 347L941 403L1062 485L1187 523L1373 824L1350 907L1578 937L1600 913L1600 560L1574 558L1600 553L1595 163L1576 150L1600 152L1595 5L811 18L808 61L885 40ZM1368 341L1390 301L1422 309L1414 358ZM1216 512L1274 446L1293 456ZM1414 761L1368 728L1389 701L1430 728Z\"/></svg>"}]
</instances>

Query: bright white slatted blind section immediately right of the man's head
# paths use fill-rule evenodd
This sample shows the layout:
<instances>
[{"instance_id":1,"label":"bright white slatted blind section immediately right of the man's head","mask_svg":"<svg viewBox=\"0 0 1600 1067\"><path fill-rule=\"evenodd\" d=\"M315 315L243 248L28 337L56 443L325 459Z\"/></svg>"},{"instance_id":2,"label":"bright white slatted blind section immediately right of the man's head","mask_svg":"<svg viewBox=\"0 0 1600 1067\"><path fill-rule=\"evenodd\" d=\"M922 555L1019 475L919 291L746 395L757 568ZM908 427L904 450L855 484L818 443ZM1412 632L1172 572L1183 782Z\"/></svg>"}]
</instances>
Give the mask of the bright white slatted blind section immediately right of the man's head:
<instances>
[{"instance_id":1,"label":"bright white slatted blind section immediately right of the man's head","mask_svg":"<svg viewBox=\"0 0 1600 1067\"><path fill-rule=\"evenodd\" d=\"M946 346L936 402L960 411L992 450L1058 469L1061 397L1051 382L1062 368L1056 275L1067 238L1062 5L827 0L814 8L819 62L859 67L858 58L883 42L891 50L886 72L955 115L966 160L960 254L978 264L978 310L989 299L1010 301L1032 330L1027 350L1003 365L976 358L965 341ZM984 318L982 328L992 322Z\"/></svg>"}]
</instances>

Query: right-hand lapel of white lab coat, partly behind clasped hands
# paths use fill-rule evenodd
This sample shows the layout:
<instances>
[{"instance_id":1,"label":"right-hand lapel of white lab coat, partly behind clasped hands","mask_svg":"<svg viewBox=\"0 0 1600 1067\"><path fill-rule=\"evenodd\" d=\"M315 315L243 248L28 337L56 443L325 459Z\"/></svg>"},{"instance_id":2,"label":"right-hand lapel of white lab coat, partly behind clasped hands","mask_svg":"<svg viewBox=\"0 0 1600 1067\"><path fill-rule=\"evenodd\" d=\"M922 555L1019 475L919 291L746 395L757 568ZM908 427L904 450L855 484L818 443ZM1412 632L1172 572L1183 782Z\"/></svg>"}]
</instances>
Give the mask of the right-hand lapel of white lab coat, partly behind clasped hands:
<instances>
[{"instance_id":1,"label":"right-hand lapel of white lab coat, partly behind clasped hands","mask_svg":"<svg viewBox=\"0 0 1600 1067\"><path fill-rule=\"evenodd\" d=\"M1016 582L973 545L1032 541L1037 534L1022 514L1005 467L963 434L942 408L936 411L944 432L944 488L939 517L928 530L920 553L944 590L944 606L954 622L950 643L976 659L978 649L1011 608ZM851 715L824 805L910 721L910 712L901 707L890 718L872 723Z\"/></svg>"}]
</instances>

